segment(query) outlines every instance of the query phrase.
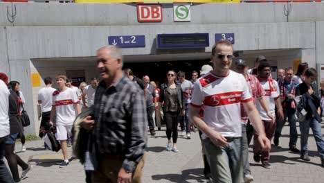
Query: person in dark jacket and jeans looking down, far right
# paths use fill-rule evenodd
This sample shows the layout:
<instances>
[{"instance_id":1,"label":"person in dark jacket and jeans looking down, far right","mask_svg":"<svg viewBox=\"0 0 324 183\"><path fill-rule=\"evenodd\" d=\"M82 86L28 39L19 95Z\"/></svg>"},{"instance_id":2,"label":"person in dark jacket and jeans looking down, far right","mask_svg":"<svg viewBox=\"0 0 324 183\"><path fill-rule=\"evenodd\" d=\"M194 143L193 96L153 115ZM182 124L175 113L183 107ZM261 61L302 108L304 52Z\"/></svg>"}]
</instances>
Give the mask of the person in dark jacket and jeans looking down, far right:
<instances>
[{"instance_id":1,"label":"person in dark jacket and jeans looking down, far right","mask_svg":"<svg viewBox=\"0 0 324 183\"><path fill-rule=\"evenodd\" d=\"M318 154L321 157L321 165L324 167L324 140L322 137L321 128L321 99L318 97L316 84L317 72L316 69L309 68L305 71L305 80L296 88L296 96L302 96L303 110L307 112L306 119L299 121L300 127L300 159L310 161L308 157L308 136L309 128L312 128Z\"/></svg>"}]
</instances>

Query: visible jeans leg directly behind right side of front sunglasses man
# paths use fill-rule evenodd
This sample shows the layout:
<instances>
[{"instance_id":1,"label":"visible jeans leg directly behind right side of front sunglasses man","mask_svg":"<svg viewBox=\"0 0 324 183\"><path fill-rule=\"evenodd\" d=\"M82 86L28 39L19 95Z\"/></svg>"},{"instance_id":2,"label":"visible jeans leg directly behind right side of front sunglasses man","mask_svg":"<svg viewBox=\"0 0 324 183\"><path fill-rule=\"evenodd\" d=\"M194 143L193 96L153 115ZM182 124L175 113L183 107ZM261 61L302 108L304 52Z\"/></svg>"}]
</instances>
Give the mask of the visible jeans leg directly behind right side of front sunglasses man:
<instances>
[{"instance_id":1,"label":"visible jeans leg directly behind right side of front sunglasses man","mask_svg":"<svg viewBox=\"0 0 324 183\"><path fill-rule=\"evenodd\" d=\"M249 163L249 146L246 136L246 124L242 123L242 161L243 161L243 175L251 175L251 168Z\"/></svg>"}]
</instances>

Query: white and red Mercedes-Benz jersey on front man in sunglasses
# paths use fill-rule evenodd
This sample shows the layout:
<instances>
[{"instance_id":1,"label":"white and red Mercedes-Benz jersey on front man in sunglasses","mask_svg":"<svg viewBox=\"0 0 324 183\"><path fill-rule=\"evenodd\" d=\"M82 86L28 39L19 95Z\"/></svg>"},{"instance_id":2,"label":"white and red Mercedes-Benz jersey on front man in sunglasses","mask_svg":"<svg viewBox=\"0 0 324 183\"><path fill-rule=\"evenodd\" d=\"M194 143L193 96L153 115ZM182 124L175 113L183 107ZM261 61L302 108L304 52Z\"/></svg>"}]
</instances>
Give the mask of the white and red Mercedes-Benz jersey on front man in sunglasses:
<instances>
[{"instance_id":1,"label":"white and red Mercedes-Benz jersey on front man in sunglasses","mask_svg":"<svg viewBox=\"0 0 324 183\"><path fill-rule=\"evenodd\" d=\"M230 70L224 78L209 72L198 80L191 106L204 105L205 123L224 137L242 137L240 104L253 100L244 76Z\"/></svg>"}]
</instances>

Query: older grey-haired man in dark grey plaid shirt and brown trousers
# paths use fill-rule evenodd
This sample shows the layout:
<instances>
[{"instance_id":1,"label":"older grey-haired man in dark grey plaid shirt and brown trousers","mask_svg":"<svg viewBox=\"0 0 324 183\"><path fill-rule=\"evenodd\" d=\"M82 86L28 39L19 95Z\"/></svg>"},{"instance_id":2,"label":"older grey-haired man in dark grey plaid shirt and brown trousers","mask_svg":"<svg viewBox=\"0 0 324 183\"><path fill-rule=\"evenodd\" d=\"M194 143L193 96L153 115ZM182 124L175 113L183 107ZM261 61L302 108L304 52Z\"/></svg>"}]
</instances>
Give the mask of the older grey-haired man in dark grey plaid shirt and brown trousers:
<instances>
[{"instance_id":1,"label":"older grey-haired man in dark grey plaid shirt and brown trousers","mask_svg":"<svg viewBox=\"0 0 324 183\"><path fill-rule=\"evenodd\" d=\"M93 129L98 167L92 182L141 182L147 143L147 113L143 89L125 77L123 56L116 46L97 51L102 81L94 100L94 116L82 127Z\"/></svg>"}]
</instances>

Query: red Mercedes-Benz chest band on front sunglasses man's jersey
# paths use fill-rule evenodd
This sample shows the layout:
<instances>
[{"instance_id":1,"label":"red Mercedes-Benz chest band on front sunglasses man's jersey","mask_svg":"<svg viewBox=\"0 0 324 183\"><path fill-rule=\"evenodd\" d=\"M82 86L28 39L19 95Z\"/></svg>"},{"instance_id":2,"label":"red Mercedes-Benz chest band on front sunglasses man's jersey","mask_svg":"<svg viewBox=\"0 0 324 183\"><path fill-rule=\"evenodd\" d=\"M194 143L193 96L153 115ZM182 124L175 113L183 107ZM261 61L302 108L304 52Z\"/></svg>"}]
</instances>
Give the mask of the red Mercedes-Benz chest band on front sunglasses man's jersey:
<instances>
[{"instance_id":1,"label":"red Mercedes-Benz chest band on front sunglasses man's jersey","mask_svg":"<svg viewBox=\"0 0 324 183\"><path fill-rule=\"evenodd\" d=\"M242 92L226 92L222 94L215 94L212 96L206 96L204 100L204 105L215 107L240 103L241 98Z\"/></svg>"}]
</instances>

